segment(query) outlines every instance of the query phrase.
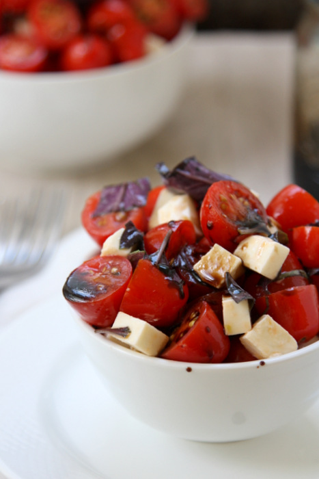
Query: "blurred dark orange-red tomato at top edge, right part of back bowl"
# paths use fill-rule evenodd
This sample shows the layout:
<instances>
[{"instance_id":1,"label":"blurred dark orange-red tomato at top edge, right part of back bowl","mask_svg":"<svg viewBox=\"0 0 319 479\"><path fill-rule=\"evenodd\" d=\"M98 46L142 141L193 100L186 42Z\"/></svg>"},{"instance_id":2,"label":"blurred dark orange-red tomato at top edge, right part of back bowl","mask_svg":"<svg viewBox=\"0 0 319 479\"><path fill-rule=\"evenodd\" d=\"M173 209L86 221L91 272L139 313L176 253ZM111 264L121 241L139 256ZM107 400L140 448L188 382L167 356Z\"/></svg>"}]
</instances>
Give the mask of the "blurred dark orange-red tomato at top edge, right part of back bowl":
<instances>
[{"instance_id":1,"label":"blurred dark orange-red tomato at top edge, right part of back bowl","mask_svg":"<svg viewBox=\"0 0 319 479\"><path fill-rule=\"evenodd\" d=\"M170 0L129 0L137 18L152 33L171 40L178 33L181 19Z\"/></svg>"}]
</instances>

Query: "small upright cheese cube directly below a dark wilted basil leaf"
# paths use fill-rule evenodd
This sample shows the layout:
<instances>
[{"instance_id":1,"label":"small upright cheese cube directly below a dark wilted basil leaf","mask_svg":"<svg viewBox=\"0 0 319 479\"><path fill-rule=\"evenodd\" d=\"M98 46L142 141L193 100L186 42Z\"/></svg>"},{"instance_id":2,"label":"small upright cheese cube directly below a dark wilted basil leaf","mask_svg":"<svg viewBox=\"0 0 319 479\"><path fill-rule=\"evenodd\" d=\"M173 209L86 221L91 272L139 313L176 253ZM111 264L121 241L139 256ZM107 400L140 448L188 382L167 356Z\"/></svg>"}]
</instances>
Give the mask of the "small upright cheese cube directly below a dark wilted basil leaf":
<instances>
[{"instance_id":1,"label":"small upright cheese cube directly below a dark wilted basil leaf","mask_svg":"<svg viewBox=\"0 0 319 479\"><path fill-rule=\"evenodd\" d=\"M227 336L241 335L251 330L248 300L236 302L232 296L222 297L223 324Z\"/></svg>"}]
</instances>

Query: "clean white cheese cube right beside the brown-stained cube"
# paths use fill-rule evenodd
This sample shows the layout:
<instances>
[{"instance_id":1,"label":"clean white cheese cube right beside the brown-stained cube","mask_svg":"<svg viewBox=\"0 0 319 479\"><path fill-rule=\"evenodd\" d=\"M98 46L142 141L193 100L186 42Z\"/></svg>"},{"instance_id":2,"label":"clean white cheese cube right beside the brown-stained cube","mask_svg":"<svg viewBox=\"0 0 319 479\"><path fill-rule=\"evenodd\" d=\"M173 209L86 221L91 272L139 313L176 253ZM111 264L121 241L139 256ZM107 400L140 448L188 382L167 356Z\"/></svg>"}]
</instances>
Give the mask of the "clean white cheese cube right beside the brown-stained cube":
<instances>
[{"instance_id":1,"label":"clean white cheese cube right beside the brown-stained cube","mask_svg":"<svg viewBox=\"0 0 319 479\"><path fill-rule=\"evenodd\" d=\"M250 270L275 279L289 251L287 246L269 237L251 235L238 244L234 255L242 259L244 266Z\"/></svg>"}]
</instances>

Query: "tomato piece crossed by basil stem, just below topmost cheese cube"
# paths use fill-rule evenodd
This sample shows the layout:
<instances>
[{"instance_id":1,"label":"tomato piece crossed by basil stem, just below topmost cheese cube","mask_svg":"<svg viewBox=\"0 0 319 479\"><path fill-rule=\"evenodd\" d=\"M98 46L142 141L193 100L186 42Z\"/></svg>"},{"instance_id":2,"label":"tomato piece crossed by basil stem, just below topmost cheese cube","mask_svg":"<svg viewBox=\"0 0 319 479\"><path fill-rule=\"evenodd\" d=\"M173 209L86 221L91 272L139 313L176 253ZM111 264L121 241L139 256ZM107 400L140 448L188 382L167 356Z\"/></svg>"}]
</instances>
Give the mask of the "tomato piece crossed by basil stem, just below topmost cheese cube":
<instances>
[{"instance_id":1,"label":"tomato piece crossed by basil stem, just below topmost cheese cube","mask_svg":"<svg viewBox=\"0 0 319 479\"><path fill-rule=\"evenodd\" d=\"M180 249L186 244L194 244L196 233L194 225L189 220L170 221L169 223L158 224L150 229L144 236L145 251L148 255L155 253L163 243L167 233L172 231L167 250L167 259L176 257Z\"/></svg>"}]
</instances>

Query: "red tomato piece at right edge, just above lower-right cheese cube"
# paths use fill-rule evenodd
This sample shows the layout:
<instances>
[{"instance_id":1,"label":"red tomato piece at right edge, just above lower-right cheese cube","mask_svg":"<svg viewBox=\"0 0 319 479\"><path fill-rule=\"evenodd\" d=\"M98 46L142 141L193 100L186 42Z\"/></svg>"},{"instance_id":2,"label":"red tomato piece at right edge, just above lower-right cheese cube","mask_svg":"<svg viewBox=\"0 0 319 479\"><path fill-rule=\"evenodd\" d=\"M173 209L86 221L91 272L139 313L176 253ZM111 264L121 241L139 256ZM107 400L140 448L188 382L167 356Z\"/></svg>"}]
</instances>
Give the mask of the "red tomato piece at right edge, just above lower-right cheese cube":
<instances>
[{"instance_id":1,"label":"red tomato piece at right edge, just above lower-right cheese cube","mask_svg":"<svg viewBox=\"0 0 319 479\"><path fill-rule=\"evenodd\" d=\"M256 300L260 314L264 302ZM268 296L268 309L271 315L296 341L308 341L319 331L319 298L315 285L294 286L271 293Z\"/></svg>"}]
</instances>

